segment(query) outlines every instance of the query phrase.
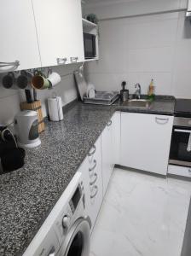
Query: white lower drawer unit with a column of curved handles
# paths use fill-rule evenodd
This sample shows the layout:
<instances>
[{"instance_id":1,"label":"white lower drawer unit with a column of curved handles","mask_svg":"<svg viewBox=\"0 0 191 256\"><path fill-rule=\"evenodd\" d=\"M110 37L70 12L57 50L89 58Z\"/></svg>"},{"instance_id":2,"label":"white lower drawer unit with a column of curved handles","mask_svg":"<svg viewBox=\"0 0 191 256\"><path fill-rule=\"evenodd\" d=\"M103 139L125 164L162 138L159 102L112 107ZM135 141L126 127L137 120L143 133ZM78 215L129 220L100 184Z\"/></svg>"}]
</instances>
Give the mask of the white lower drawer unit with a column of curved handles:
<instances>
[{"instance_id":1,"label":"white lower drawer unit with a column of curved handles","mask_svg":"<svg viewBox=\"0 0 191 256\"><path fill-rule=\"evenodd\" d=\"M85 210L87 215L90 216L92 224L91 230L93 230L103 199L101 177L101 137L98 138L93 148L90 149L90 153L85 158L78 171L83 173Z\"/></svg>"}]
</instances>

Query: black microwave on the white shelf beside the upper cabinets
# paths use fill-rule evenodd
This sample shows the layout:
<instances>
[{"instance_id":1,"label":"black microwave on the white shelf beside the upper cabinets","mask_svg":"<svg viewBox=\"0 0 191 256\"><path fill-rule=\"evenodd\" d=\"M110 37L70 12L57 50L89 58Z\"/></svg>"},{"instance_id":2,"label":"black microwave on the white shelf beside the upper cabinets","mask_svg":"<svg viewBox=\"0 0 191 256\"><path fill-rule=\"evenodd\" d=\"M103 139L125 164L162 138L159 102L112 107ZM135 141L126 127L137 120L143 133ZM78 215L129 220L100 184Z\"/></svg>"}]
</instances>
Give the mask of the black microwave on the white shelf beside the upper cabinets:
<instances>
[{"instance_id":1,"label":"black microwave on the white shelf beside the upper cabinets","mask_svg":"<svg viewBox=\"0 0 191 256\"><path fill-rule=\"evenodd\" d=\"M84 33L84 57L93 59L96 57L96 36Z\"/></svg>"}]
</instances>

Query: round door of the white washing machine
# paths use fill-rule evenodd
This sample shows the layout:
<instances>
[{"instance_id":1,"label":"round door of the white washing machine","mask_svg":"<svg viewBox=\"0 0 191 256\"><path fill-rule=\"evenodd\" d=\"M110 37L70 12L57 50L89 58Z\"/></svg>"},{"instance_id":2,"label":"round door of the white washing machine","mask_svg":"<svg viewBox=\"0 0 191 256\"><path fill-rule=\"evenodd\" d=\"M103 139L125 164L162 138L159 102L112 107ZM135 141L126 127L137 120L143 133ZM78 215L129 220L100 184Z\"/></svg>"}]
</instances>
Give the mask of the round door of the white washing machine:
<instances>
[{"instance_id":1,"label":"round door of the white washing machine","mask_svg":"<svg viewBox=\"0 0 191 256\"><path fill-rule=\"evenodd\" d=\"M90 218L78 218L68 231L58 256L89 256Z\"/></svg>"}]
</instances>

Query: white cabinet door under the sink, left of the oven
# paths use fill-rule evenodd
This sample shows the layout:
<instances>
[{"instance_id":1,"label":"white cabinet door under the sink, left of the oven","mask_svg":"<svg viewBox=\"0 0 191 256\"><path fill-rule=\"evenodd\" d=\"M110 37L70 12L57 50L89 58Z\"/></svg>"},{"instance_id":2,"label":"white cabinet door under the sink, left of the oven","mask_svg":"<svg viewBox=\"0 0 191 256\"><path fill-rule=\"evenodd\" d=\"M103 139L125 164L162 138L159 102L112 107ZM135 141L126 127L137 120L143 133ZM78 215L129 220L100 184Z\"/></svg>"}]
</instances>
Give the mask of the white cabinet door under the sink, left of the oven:
<instances>
[{"instance_id":1,"label":"white cabinet door under the sink, left of the oven","mask_svg":"<svg viewBox=\"0 0 191 256\"><path fill-rule=\"evenodd\" d=\"M121 113L122 166L166 175L173 117Z\"/></svg>"}]
</instances>

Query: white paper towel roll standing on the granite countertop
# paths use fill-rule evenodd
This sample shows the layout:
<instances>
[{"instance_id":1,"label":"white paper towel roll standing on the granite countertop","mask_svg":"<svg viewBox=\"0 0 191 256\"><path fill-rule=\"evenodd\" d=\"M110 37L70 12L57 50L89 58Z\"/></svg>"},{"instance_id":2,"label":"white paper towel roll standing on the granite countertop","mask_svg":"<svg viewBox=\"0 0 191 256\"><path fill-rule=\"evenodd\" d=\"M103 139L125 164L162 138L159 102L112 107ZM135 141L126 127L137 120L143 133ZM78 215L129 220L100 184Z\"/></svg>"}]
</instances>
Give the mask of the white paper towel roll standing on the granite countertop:
<instances>
[{"instance_id":1,"label":"white paper towel roll standing on the granite countertop","mask_svg":"<svg viewBox=\"0 0 191 256\"><path fill-rule=\"evenodd\" d=\"M48 108L51 121L61 121L63 119L61 97L48 98Z\"/></svg>"}]
</instances>

